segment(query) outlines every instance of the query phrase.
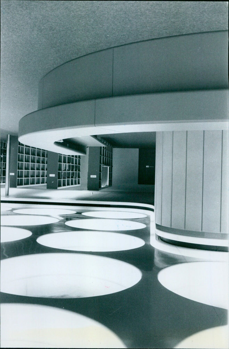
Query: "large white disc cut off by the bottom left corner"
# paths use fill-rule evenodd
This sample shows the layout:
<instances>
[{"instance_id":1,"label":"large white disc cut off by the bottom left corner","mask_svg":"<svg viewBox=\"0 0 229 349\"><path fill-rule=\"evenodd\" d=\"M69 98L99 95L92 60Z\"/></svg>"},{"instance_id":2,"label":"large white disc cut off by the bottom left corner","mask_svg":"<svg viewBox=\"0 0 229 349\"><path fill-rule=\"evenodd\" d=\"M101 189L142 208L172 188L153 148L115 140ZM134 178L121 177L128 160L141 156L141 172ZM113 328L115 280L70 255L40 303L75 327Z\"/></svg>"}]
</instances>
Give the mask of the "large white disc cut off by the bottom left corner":
<instances>
[{"instance_id":1,"label":"large white disc cut off by the bottom left corner","mask_svg":"<svg viewBox=\"0 0 229 349\"><path fill-rule=\"evenodd\" d=\"M1 304L1 348L125 348L119 337L81 314L36 304Z\"/></svg>"}]
</instances>

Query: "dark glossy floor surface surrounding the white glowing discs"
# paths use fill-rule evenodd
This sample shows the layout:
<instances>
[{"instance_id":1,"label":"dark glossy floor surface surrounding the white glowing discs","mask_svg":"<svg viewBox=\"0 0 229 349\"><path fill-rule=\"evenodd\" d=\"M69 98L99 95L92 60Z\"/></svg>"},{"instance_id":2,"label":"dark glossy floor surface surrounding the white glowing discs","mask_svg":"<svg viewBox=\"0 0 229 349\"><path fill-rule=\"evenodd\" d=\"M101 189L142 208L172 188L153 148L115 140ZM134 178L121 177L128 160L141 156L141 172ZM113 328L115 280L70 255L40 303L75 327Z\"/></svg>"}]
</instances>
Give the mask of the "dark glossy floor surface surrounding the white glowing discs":
<instances>
[{"instance_id":1,"label":"dark glossy floor surface surrounding the white glowing discs","mask_svg":"<svg viewBox=\"0 0 229 349\"><path fill-rule=\"evenodd\" d=\"M7 206L10 207L10 203L7 203ZM18 213L13 213L14 209L40 207L29 203L12 203L11 206L12 209L2 212L3 216L20 216ZM63 204L49 206L44 203L41 207L70 208L75 209L77 213L62 215L61 220L52 224L20 225L19 228L30 230L32 235L25 239L1 243L2 260L43 253L99 255L137 267L142 273L142 278L132 287L122 291L93 297L55 298L53 294L52 297L45 298L1 292L1 303L48 305L85 315L112 330L127 348L174 348L192 334L227 324L227 310L179 296L158 281L157 275L163 268L187 261L194 262L196 259L183 258L153 248L150 245L149 216L130 220L145 224L146 227L143 229L113 231L143 239L145 244L142 247L113 252L68 251L40 245L36 240L47 233L85 231L85 229L70 228L65 222L88 219L89 217L81 213L95 208L77 205L69 207ZM101 207L96 209L103 210L102 203ZM198 285L193 287L196 288Z\"/></svg>"}]
</instances>

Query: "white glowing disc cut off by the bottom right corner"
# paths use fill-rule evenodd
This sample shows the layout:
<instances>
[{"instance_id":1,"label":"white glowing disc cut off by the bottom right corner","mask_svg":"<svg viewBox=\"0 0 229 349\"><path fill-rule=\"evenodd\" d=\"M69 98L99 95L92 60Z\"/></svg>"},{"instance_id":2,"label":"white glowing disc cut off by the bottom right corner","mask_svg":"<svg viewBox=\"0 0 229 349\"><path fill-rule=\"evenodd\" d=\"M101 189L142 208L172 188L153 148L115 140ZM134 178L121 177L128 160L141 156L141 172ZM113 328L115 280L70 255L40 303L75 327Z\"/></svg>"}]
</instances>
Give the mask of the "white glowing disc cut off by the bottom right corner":
<instances>
[{"instance_id":1,"label":"white glowing disc cut off by the bottom right corner","mask_svg":"<svg viewBox=\"0 0 229 349\"><path fill-rule=\"evenodd\" d=\"M177 344L176 349L222 349L228 348L228 325L205 329Z\"/></svg>"}]
</instances>

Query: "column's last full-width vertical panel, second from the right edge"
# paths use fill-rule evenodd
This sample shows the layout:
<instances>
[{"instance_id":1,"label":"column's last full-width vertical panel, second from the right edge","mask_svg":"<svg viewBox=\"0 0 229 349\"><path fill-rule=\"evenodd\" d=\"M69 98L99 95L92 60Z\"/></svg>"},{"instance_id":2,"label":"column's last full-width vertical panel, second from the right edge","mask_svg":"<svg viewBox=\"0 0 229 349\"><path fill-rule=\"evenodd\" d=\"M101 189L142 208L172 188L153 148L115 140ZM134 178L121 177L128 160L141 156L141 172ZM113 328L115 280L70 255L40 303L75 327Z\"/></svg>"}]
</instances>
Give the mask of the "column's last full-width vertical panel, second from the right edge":
<instances>
[{"instance_id":1,"label":"column's last full-width vertical panel, second from the right edge","mask_svg":"<svg viewBox=\"0 0 229 349\"><path fill-rule=\"evenodd\" d=\"M202 230L220 232L222 131L204 132Z\"/></svg>"}]
</instances>

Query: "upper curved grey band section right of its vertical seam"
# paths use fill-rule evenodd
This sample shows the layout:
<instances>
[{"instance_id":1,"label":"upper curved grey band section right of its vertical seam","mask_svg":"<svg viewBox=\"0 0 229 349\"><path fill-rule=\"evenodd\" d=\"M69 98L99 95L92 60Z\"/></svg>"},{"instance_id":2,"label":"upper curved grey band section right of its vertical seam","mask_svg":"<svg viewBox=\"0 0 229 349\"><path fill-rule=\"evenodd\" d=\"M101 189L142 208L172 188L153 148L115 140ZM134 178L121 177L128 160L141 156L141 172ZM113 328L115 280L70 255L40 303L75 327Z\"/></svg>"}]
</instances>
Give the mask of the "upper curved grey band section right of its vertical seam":
<instances>
[{"instance_id":1,"label":"upper curved grey band section right of its vertical seam","mask_svg":"<svg viewBox=\"0 0 229 349\"><path fill-rule=\"evenodd\" d=\"M219 88L219 76L227 87L227 40L208 32L115 47L113 95Z\"/></svg>"}]
</instances>

